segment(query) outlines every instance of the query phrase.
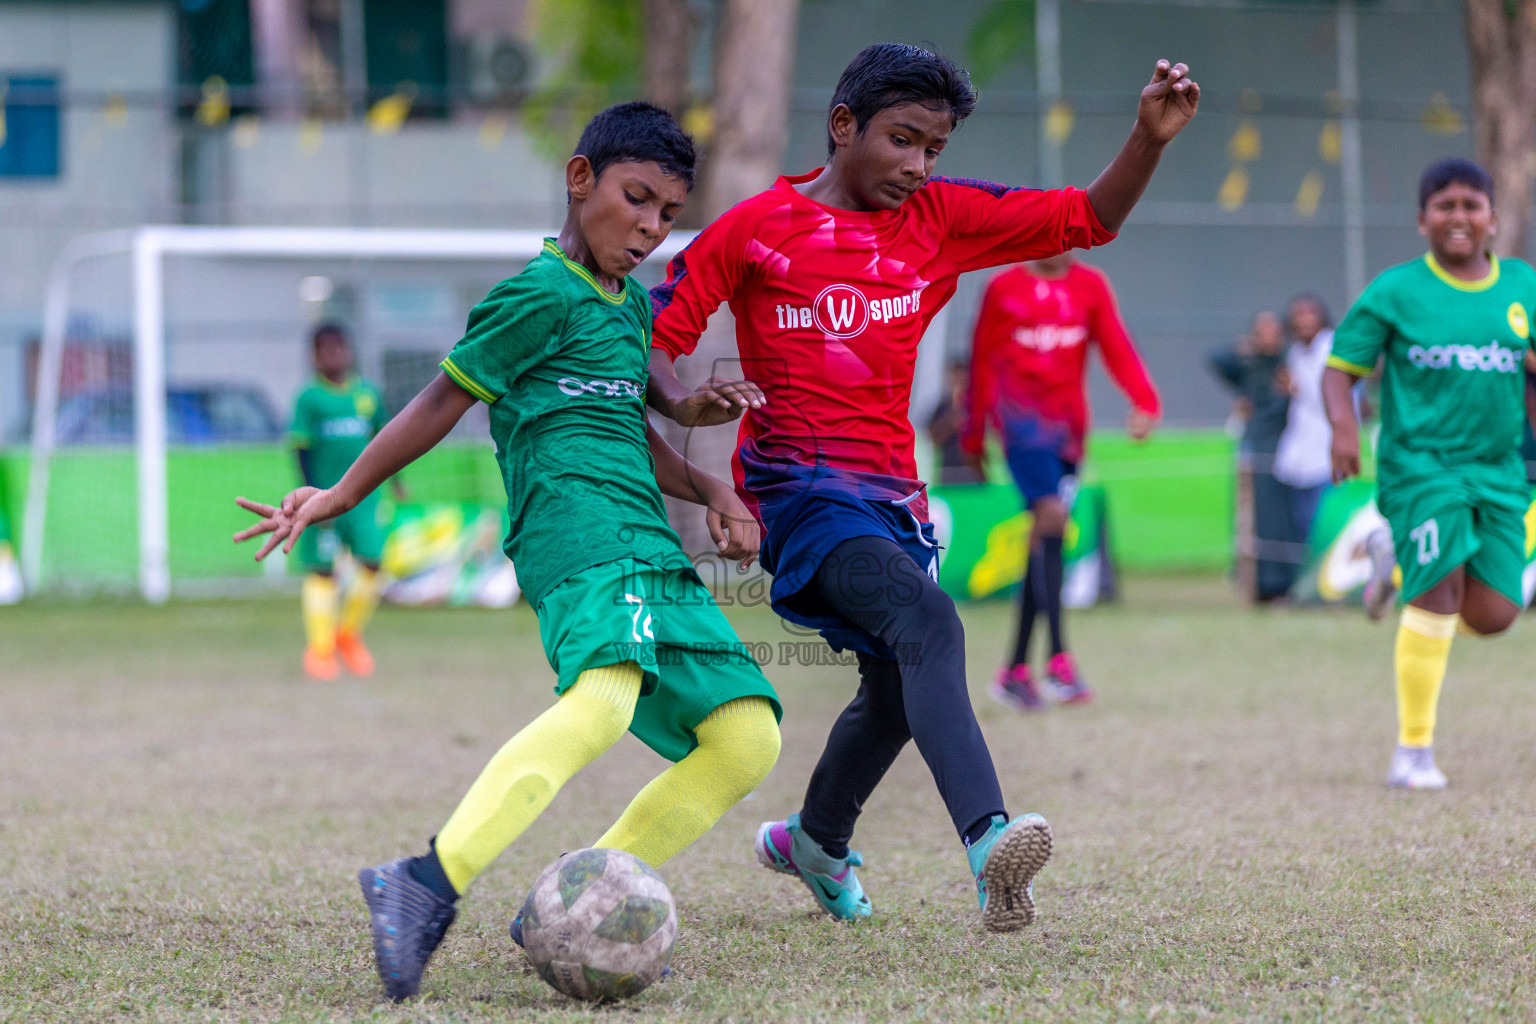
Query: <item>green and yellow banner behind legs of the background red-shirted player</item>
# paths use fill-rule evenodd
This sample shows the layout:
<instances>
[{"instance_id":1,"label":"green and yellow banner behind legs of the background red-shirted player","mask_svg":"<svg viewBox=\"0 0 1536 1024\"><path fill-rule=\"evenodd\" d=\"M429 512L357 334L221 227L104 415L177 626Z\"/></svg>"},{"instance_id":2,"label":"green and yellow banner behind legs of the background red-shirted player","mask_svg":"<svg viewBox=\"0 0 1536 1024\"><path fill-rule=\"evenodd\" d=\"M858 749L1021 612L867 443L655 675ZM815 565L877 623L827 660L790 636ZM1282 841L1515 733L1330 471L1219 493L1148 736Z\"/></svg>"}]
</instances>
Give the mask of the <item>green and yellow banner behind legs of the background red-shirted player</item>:
<instances>
[{"instance_id":1,"label":"green and yellow banner behind legs of the background red-shirted player","mask_svg":"<svg viewBox=\"0 0 1536 1024\"><path fill-rule=\"evenodd\" d=\"M1029 556L1029 511L1009 484L928 488L928 514L940 543L938 583L955 600L1008 597L1018 591ZM1061 600L1089 608L1115 596L1104 490L1080 487L1072 500L1063 554Z\"/></svg>"}]
</instances>

